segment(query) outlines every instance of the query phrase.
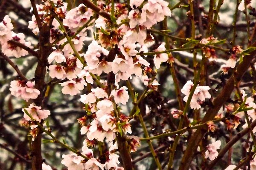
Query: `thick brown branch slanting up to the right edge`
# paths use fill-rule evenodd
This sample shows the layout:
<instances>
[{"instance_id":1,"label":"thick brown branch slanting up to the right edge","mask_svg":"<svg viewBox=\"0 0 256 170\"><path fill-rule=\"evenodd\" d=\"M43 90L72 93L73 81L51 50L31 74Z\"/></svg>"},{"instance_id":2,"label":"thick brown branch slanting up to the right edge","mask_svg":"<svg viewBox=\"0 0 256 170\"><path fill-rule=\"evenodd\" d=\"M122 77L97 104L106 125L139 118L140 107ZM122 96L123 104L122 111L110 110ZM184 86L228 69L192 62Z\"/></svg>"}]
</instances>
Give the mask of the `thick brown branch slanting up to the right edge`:
<instances>
[{"instance_id":1,"label":"thick brown branch slanting up to the right edge","mask_svg":"<svg viewBox=\"0 0 256 170\"><path fill-rule=\"evenodd\" d=\"M256 46L256 43L254 43L253 46ZM250 53L250 56L245 56L243 58L243 62L241 62L238 65L237 70L227 80L226 85L223 87L221 93L212 102L212 107L209 108L209 110L205 114L204 119L202 120L202 123L212 120L215 117L215 115L218 113L220 108L227 101L227 99L230 98L230 95L233 92L233 89L235 87L235 80L237 82L239 82L241 80L244 73L250 67L250 64L253 61L253 58L255 58L255 55L256 55L256 51L253 51ZM189 169L189 165L193 159L193 155L195 154L195 151L198 148L199 142L203 139L203 137L206 133L207 133L207 128L198 129L192 135L192 137L189 139L187 149L184 152L179 170L188 170Z\"/></svg>"}]
</instances>

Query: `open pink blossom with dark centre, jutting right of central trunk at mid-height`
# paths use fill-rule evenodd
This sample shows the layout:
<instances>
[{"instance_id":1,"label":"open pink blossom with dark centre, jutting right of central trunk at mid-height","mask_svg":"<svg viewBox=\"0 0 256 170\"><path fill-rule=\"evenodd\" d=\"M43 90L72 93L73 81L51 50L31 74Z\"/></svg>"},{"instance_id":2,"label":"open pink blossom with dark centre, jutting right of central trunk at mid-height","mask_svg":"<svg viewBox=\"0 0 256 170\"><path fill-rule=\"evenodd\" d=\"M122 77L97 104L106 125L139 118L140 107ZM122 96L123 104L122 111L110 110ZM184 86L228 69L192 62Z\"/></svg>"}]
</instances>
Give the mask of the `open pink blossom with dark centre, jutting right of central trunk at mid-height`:
<instances>
[{"instance_id":1,"label":"open pink blossom with dark centre, jutting right of central trunk at mid-height","mask_svg":"<svg viewBox=\"0 0 256 170\"><path fill-rule=\"evenodd\" d=\"M111 91L110 96L113 96L116 103L122 103L125 105L128 102L129 95L128 91L126 91L128 88L123 86L120 89Z\"/></svg>"}]
</instances>

